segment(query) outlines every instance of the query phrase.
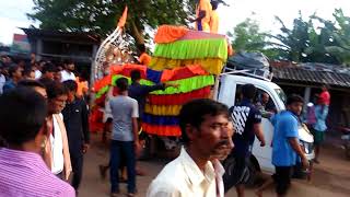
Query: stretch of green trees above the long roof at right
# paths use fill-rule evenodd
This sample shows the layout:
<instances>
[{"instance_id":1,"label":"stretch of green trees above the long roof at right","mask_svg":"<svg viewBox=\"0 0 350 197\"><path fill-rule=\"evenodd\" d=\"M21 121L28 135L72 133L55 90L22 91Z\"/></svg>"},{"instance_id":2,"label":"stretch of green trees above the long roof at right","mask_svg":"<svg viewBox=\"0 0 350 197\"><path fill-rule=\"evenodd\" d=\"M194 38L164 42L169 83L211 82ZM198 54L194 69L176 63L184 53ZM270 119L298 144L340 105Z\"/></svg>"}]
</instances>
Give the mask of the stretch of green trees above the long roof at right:
<instances>
[{"instance_id":1,"label":"stretch of green trees above the long roof at right","mask_svg":"<svg viewBox=\"0 0 350 197\"><path fill-rule=\"evenodd\" d=\"M335 10L332 15L332 21L316 13L304 20L299 13L291 28L276 16L281 26L277 34L261 32L256 21L247 19L228 35L238 51L258 50L271 59L295 62L350 65L350 18L341 9Z\"/></svg>"}]
</instances>

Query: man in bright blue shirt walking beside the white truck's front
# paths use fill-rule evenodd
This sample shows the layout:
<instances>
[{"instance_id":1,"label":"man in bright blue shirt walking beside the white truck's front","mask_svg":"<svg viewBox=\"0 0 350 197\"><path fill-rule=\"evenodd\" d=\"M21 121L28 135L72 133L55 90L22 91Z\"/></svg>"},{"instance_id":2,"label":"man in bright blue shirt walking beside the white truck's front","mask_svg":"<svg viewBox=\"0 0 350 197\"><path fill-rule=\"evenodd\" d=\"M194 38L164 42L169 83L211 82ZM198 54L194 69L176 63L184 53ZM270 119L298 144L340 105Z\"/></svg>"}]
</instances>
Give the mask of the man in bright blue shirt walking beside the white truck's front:
<instances>
[{"instance_id":1,"label":"man in bright blue shirt walking beside the white truck's front","mask_svg":"<svg viewBox=\"0 0 350 197\"><path fill-rule=\"evenodd\" d=\"M287 111L271 118L275 127L272 140L272 164L276 173L272 176L278 196L285 196L291 183L292 167L296 162L296 154L301 158L305 169L308 161L299 144L298 116L303 108L304 101L299 95L291 95L287 100Z\"/></svg>"}]
</instances>

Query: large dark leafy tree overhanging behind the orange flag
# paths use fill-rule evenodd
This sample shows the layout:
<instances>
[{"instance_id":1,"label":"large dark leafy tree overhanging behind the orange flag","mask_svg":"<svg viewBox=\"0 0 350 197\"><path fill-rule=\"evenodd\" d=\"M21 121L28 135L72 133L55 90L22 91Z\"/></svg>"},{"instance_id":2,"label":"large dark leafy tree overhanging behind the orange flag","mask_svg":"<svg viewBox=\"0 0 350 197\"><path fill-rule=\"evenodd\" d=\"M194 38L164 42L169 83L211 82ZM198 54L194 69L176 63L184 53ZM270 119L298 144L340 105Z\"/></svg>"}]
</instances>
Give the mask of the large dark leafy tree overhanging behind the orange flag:
<instances>
[{"instance_id":1,"label":"large dark leafy tree overhanging behind the orange flag","mask_svg":"<svg viewBox=\"0 0 350 197\"><path fill-rule=\"evenodd\" d=\"M144 43L148 32L161 24L188 24L196 0L33 0L28 18L40 28L91 32L102 37L114 31L125 5L128 5L126 31L136 43Z\"/></svg>"}]
</instances>

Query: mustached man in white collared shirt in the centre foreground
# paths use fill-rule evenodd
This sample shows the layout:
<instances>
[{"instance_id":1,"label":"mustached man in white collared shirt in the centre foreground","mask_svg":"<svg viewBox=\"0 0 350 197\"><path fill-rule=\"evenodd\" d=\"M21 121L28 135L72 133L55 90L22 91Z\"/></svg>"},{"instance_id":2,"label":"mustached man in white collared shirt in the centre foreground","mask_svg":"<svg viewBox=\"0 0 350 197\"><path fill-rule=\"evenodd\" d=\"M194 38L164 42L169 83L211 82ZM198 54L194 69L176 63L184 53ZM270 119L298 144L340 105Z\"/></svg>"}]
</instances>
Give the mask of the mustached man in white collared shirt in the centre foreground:
<instances>
[{"instance_id":1,"label":"mustached man in white collared shirt in the centre foreground","mask_svg":"<svg viewBox=\"0 0 350 197\"><path fill-rule=\"evenodd\" d=\"M228 106L209 99L185 104L178 116L184 147L151 183L147 197L223 197L218 159L233 148Z\"/></svg>"}]
</instances>

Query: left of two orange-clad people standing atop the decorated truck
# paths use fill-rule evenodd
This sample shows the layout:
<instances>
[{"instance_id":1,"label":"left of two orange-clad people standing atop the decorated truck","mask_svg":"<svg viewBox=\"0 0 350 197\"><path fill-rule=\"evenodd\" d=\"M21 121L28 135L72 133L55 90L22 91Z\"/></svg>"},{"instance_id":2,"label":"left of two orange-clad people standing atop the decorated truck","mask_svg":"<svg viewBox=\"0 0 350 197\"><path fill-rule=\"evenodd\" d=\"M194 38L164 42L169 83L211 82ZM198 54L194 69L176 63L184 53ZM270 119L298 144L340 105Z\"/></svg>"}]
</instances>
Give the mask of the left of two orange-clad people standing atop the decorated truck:
<instances>
[{"instance_id":1,"label":"left of two orange-clad people standing atop the decorated truck","mask_svg":"<svg viewBox=\"0 0 350 197\"><path fill-rule=\"evenodd\" d=\"M197 4L196 18L194 21L196 22L196 30L210 32L210 18L211 18L211 4L210 0L199 0Z\"/></svg>"}]
</instances>

